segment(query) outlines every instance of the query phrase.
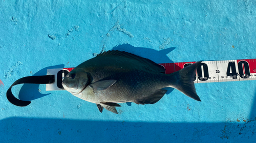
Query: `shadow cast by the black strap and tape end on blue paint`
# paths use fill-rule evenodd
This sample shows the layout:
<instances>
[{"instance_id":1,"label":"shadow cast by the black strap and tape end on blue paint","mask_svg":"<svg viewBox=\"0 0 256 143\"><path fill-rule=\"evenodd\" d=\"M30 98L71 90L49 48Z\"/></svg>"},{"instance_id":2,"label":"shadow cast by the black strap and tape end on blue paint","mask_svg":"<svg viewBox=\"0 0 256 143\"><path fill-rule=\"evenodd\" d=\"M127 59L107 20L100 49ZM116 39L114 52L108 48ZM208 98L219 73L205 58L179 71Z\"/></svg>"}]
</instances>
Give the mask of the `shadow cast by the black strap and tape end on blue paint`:
<instances>
[{"instance_id":1,"label":"shadow cast by the black strap and tape end on blue paint","mask_svg":"<svg viewBox=\"0 0 256 143\"><path fill-rule=\"evenodd\" d=\"M33 76L46 75L47 69L64 68L64 66L65 65L61 64L61 65L46 67L44 69L39 70L35 74L33 74ZM39 91L39 84L23 84L22 88L19 91L18 98L23 101L31 101L31 100L35 100L35 99L47 96L49 94L41 94Z\"/></svg>"}]
</instances>

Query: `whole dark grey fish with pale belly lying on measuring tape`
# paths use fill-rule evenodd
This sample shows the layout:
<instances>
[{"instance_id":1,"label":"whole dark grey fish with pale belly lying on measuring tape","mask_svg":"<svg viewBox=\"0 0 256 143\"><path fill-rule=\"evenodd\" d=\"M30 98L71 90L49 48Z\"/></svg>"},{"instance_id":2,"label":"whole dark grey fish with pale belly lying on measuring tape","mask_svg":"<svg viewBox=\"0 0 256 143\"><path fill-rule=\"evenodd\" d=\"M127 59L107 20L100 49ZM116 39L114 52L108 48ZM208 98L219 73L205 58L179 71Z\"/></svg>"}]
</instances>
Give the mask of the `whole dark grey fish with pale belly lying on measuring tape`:
<instances>
[{"instance_id":1,"label":"whole dark grey fish with pale belly lying on measuring tape","mask_svg":"<svg viewBox=\"0 0 256 143\"><path fill-rule=\"evenodd\" d=\"M164 67L141 56L119 50L109 50L85 61L62 80L65 90L74 96L117 113L119 103L154 104L171 87L186 96L201 101L194 78L202 61L179 71L165 74Z\"/></svg>"}]
</instances>

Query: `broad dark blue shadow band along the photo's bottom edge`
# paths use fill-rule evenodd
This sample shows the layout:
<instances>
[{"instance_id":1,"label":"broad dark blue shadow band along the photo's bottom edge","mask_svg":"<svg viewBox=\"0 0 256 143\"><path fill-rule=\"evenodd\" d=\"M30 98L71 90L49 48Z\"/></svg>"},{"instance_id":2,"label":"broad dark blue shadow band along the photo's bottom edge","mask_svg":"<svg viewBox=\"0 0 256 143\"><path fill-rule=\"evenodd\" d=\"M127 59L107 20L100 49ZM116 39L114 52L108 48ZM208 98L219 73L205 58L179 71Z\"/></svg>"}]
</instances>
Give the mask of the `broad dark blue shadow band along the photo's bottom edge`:
<instances>
[{"instance_id":1,"label":"broad dark blue shadow band along the photo's bottom edge","mask_svg":"<svg viewBox=\"0 0 256 143\"><path fill-rule=\"evenodd\" d=\"M144 123L8 118L2 142L253 142L256 120L237 123Z\"/></svg>"}]
</instances>

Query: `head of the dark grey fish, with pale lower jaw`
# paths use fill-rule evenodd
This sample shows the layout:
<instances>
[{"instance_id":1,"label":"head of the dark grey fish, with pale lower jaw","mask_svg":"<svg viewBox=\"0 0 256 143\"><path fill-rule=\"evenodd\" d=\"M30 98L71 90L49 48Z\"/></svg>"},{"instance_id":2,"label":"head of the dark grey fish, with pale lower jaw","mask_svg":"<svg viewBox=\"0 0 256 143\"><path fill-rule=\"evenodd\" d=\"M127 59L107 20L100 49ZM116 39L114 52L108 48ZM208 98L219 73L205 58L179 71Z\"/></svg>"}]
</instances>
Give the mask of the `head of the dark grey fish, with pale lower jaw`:
<instances>
[{"instance_id":1,"label":"head of the dark grey fish, with pale lower jaw","mask_svg":"<svg viewBox=\"0 0 256 143\"><path fill-rule=\"evenodd\" d=\"M62 86L72 94L81 93L88 85L89 78L87 72L72 70L62 80Z\"/></svg>"}]
</instances>

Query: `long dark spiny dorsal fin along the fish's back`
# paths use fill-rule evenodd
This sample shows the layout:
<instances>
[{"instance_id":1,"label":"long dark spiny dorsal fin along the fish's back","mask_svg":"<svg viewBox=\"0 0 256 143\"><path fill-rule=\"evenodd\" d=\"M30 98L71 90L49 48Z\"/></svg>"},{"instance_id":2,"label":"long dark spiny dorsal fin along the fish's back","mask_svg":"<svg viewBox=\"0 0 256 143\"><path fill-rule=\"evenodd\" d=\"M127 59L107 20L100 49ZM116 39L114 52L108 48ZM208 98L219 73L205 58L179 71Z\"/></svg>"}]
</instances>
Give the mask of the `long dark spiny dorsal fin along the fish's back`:
<instances>
[{"instance_id":1,"label":"long dark spiny dorsal fin along the fish's back","mask_svg":"<svg viewBox=\"0 0 256 143\"><path fill-rule=\"evenodd\" d=\"M144 65L147 65L148 67L151 67L156 72L163 73L165 71L165 69L162 66L158 65L157 63L155 63L149 59L142 58L141 56L135 55L130 52L119 51L119 50L109 50L109 51L104 51L104 52L98 54L97 56L106 56L106 55L116 55L116 56L122 56L124 58L136 60Z\"/></svg>"}]
</instances>

